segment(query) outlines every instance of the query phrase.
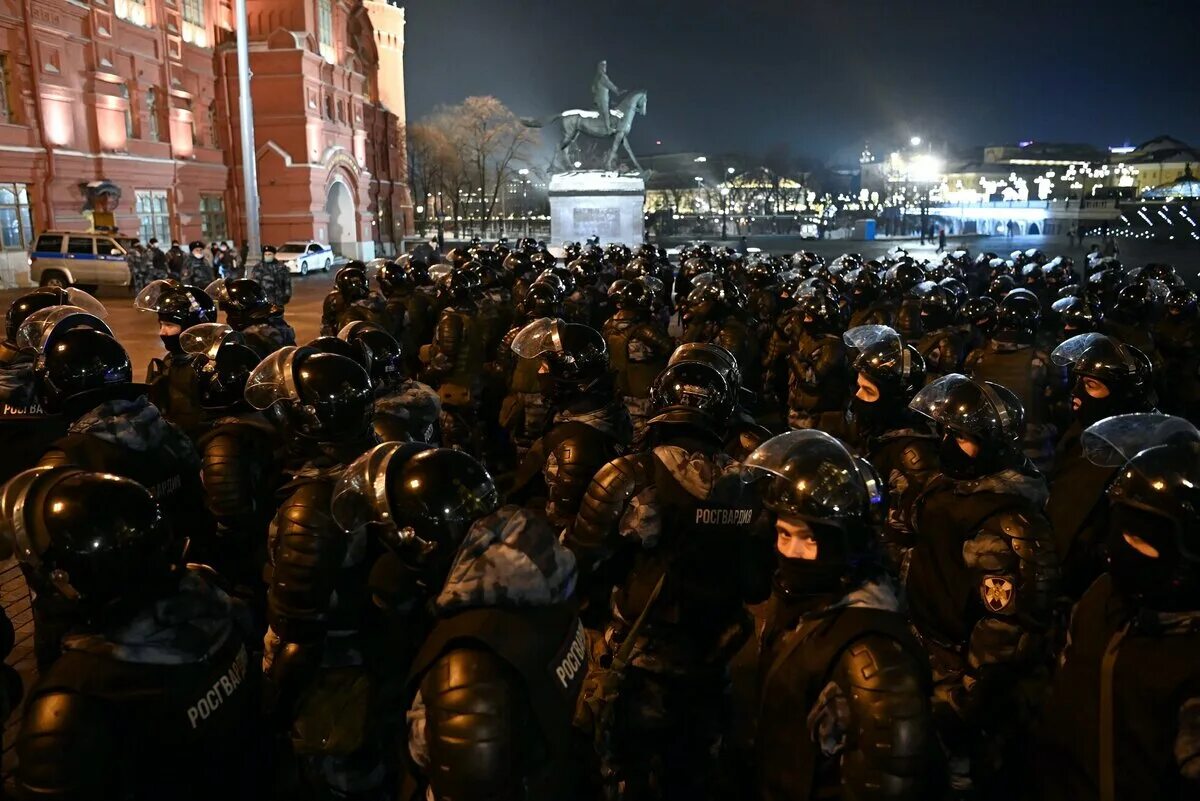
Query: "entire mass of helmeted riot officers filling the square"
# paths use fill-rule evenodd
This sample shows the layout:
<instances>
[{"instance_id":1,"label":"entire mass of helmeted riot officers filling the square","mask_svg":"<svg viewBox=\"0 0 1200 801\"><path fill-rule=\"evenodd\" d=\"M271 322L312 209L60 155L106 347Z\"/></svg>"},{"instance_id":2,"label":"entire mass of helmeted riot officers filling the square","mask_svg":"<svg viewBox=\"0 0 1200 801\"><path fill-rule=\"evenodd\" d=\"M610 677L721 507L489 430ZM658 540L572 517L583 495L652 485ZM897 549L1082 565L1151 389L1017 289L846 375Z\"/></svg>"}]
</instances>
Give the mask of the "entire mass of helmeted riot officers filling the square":
<instances>
[{"instance_id":1,"label":"entire mass of helmeted riot officers filling the square","mask_svg":"<svg viewBox=\"0 0 1200 801\"><path fill-rule=\"evenodd\" d=\"M16 797L1200 799L1171 265L192 245L7 313Z\"/></svg>"}]
</instances>

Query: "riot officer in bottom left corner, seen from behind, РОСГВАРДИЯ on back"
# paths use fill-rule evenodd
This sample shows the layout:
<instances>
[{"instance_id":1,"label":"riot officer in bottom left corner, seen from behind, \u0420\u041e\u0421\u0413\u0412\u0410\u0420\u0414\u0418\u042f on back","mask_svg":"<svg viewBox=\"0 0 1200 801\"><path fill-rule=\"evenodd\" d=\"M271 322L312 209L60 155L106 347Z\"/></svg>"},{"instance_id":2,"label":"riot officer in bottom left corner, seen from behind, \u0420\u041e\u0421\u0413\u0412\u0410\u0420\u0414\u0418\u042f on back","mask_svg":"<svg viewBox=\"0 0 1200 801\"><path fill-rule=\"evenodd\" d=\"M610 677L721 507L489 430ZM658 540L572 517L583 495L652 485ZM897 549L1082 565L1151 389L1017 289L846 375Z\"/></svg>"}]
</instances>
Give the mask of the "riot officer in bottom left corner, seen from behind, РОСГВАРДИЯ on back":
<instances>
[{"instance_id":1,"label":"riot officer in bottom left corner, seen from behind, \u0420\u041e\u0421\u0413\u0412\u0410\u0420\u0414\u0418\u042f on back","mask_svg":"<svg viewBox=\"0 0 1200 801\"><path fill-rule=\"evenodd\" d=\"M37 468L0 510L5 549L71 624L25 704L18 797L258 797L244 614L184 570L150 492Z\"/></svg>"}]
</instances>

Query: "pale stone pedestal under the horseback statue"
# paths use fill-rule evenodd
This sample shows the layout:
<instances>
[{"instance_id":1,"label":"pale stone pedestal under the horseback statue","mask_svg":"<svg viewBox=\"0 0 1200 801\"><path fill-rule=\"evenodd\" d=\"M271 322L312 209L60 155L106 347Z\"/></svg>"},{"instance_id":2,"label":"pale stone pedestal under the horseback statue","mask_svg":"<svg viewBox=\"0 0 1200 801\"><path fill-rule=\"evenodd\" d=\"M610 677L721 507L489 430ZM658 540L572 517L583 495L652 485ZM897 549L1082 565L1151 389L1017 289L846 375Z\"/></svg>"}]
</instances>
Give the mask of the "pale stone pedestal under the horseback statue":
<instances>
[{"instance_id":1,"label":"pale stone pedestal under the horseback statue","mask_svg":"<svg viewBox=\"0 0 1200 801\"><path fill-rule=\"evenodd\" d=\"M601 245L642 243L646 182L604 170L559 173L550 179L550 240L554 245L599 236Z\"/></svg>"}]
</instances>

